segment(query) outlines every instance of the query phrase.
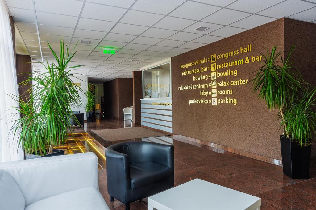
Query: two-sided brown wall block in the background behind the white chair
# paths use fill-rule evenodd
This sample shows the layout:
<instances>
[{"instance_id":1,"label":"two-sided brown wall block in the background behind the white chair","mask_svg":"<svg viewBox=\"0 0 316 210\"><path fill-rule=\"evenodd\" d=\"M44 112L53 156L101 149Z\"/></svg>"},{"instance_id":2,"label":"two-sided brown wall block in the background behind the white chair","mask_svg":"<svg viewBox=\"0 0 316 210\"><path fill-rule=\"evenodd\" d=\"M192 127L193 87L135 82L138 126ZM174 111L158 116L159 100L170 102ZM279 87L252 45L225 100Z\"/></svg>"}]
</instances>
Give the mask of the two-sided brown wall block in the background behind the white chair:
<instances>
[{"instance_id":1,"label":"two-sided brown wall block in the background behind the white chair","mask_svg":"<svg viewBox=\"0 0 316 210\"><path fill-rule=\"evenodd\" d=\"M133 105L131 78L117 78L103 83L105 115L124 119L123 108Z\"/></svg>"}]
</instances>

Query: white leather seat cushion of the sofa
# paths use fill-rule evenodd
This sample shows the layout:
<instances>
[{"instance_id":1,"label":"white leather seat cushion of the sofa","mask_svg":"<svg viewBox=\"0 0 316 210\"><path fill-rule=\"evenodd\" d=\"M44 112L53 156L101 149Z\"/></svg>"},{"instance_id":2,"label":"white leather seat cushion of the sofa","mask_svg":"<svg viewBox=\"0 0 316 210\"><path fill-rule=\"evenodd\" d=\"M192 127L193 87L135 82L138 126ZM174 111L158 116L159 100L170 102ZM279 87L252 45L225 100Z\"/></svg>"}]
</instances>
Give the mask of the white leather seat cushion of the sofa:
<instances>
[{"instance_id":1,"label":"white leather seat cushion of the sofa","mask_svg":"<svg viewBox=\"0 0 316 210\"><path fill-rule=\"evenodd\" d=\"M80 183L78 183L80 184ZM40 192L39 192L40 193ZM25 210L109 210L99 190L86 187L65 192L56 196L42 199L25 207Z\"/></svg>"}]
</instances>

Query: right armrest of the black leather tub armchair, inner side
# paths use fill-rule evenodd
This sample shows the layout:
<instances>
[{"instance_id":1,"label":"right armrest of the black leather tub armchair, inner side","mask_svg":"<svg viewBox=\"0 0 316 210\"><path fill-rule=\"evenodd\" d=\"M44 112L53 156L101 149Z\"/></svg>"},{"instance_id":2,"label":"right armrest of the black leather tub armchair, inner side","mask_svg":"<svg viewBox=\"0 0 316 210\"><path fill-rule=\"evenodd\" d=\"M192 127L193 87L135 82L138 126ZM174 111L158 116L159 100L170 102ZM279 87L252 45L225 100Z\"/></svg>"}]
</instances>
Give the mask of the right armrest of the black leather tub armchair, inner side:
<instances>
[{"instance_id":1,"label":"right armrest of the black leather tub armchair, inner side","mask_svg":"<svg viewBox=\"0 0 316 210\"><path fill-rule=\"evenodd\" d=\"M143 160L174 169L173 145L143 142Z\"/></svg>"}]
</instances>

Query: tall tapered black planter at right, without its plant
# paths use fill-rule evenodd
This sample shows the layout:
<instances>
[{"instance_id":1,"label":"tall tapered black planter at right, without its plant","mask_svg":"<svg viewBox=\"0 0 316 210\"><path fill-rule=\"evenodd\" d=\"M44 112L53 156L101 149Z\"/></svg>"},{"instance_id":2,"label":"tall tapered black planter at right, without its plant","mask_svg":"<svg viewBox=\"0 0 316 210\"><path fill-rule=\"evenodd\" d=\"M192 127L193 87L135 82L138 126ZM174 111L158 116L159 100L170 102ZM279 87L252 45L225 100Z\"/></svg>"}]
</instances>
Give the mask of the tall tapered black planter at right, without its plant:
<instances>
[{"instance_id":1,"label":"tall tapered black planter at right, without its plant","mask_svg":"<svg viewBox=\"0 0 316 210\"><path fill-rule=\"evenodd\" d=\"M312 145L301 147L296 141L280 136L283 173L291 179L308 179Z\"/></svg>"}]
</instances>

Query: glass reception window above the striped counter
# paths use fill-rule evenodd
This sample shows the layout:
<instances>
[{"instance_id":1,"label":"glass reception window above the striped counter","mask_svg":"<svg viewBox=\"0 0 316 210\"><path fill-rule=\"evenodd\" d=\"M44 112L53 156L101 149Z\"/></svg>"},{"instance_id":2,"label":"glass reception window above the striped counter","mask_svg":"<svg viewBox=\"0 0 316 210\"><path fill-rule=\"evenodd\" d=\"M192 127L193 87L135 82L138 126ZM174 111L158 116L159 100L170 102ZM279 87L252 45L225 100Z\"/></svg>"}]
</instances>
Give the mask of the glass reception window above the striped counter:
<instances>
[{"instance_id":1,"label":"glass reception window above the striped counter","mask_svg":"<svg viewBox=\"0 0 316 210\"><path fill-rule=\"evenodd\" d=\"M143 71L143 98L171 98L170 62Z\"/></svg>"}]
</instances>

